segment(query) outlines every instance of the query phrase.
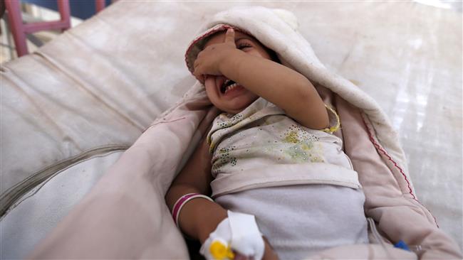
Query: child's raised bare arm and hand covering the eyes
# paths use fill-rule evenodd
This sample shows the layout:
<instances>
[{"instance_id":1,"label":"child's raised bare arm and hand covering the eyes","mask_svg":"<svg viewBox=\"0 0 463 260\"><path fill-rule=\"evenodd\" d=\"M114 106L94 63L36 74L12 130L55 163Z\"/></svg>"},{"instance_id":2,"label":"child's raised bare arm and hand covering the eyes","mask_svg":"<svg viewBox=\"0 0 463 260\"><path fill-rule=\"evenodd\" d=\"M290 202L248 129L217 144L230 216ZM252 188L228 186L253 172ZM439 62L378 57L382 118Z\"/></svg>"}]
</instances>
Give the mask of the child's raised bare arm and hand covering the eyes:
<instances>
[{"instance_id":1,"label":"child's raised bare arm and hand covering the eyes","mask_svg":"<svg viewBox=\"0 0 463 260\"><path fill-rule=\"evenodd\" d=\"M328 126L328 112L312 83L300 73L271 60L236 49L229 29L224 43L208 46L194 63L194 75L224 75L283 109L311 129Z\"/></svg>"}]
</instances>

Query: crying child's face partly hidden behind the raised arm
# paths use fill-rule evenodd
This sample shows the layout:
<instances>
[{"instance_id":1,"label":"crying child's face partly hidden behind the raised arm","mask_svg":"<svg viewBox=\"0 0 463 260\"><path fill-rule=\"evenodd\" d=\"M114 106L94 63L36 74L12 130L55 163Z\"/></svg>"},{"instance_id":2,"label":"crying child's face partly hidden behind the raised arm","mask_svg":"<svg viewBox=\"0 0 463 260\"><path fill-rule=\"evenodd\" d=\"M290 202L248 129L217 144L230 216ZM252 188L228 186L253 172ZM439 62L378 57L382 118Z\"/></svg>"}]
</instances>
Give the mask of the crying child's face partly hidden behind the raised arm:
<instances>
[{"instance_id":1,"label":"crying child's face partly hidden behind the raised arm","mask_svg":"<svg viewBox=\"0 0 463 260\"><path fill-rule=\"evenodd\" d=\"M217 33L211 36L204 48L212 44L223 43L224 39L225 31ZM235 31L235 44L237 49L244 51L246 54L271 60L264 45L261 45L259 40L256 40L246 33ZM227 80L227 77L223 75L207 75L206 80L204 80L207 97L209 97L214 106L222 111L237 114L258 98L256 94L250 92L241 85L225 88L224 83L226 83Z\"/></svg>"}]
</instances>

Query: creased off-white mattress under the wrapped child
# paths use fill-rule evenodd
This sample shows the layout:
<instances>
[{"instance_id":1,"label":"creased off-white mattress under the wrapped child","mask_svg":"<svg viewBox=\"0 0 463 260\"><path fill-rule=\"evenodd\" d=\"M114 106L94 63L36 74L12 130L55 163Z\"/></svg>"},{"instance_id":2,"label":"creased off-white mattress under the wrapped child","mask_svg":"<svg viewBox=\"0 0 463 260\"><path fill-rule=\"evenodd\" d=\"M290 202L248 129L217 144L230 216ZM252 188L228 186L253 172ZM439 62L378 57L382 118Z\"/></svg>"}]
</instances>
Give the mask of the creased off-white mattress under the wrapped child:
<instances>
[{"instance_id":1,"label":"creased off-white mattress under the wrapped child","mask_svg":"<svg viewBox=\"0 0 463 260\"><path fill-rule=\"evenodd\" d=\"M1 66L1 259L23 258L195 82L184 51L233 6L296 14L329 70L378 101L417 198L462 247L462 13L416 2L118 1Z\"/></svg>"}]
</instances>

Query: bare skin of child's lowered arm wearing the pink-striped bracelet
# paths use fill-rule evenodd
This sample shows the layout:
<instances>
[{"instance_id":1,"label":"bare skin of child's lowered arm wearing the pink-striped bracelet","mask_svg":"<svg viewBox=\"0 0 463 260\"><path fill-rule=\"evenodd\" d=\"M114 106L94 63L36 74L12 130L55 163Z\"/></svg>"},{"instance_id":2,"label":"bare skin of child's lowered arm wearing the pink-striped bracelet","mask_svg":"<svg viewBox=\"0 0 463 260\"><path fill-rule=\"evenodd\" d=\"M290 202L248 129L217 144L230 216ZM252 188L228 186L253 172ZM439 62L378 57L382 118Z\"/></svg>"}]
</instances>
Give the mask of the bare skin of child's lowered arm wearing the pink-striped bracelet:
<instances>
[{"instance_id":1,"label":"bare skin of child's lowered arm wearing the pink-striped bracelet","mask_svg":"<svg viewBox=\"0 0 463 260\"><path fill-rule=\"evenodd\" d=\"M189 158L187 164L177 175L165 196L167 206L172 211L175 202L187 193L210 195L211 157L209 146L203 139ZM179 216L182 232L189 237L199 239L201 244L209 237L217 225L227 217L227 210L215 202L197 198L187 202ZM269 243L264 239L263 259L278 259Z\"/></svg>"}]
</instances>

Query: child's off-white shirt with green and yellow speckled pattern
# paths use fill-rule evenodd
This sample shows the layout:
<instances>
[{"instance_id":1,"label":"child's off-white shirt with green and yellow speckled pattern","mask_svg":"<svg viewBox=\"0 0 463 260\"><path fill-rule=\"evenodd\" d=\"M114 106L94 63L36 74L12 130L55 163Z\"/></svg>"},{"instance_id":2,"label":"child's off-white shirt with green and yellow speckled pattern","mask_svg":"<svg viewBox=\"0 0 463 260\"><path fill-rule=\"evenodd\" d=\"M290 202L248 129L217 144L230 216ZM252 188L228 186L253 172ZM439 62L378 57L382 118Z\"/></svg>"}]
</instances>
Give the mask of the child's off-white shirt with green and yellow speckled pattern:
<instances>
[{"instance_id":1,"label":"child's off-white shirt with green and yellow speckled pattern","mask_svg":"<svg viewBox=\"0 0 463 260\"><path fill-rule=\"evenodd\" d=\"M212 175L252 170L276 164L331 163L352 169L333 131L335 111L327 107L331 127L308 129L263 98L239 114L220 114L208 134Z\"/></svg>"}]
</instances>

